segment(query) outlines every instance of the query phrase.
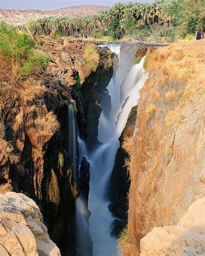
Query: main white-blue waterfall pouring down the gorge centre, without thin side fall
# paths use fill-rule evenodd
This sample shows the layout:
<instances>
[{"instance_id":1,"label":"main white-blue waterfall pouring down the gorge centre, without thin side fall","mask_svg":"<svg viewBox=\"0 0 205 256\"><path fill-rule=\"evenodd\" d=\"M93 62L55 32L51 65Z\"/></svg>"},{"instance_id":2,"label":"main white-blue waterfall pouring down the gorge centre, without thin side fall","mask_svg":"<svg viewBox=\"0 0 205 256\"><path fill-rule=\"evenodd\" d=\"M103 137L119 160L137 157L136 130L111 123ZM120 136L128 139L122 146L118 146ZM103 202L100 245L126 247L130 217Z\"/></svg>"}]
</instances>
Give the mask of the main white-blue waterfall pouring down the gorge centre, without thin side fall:
<instances>
[{"instance_id":1,"label":"main white-blue waterfall pouring down the gorge centre, without thin side fall","mask_svg":"<svg viewBox=\"0 0 205 256\"><path fill-rule=\"evenodd\" d=\"M111 236L112 222L115 219L109 212L109 201L105 194L113 169L115 154L119 147L119 136L125 127L131 108L138 104L139 89L147 75L144 74L144 58L134 65L133 59L123 55L121 45L106 44L119 58L119 68L113 74L107 89L111 96L111 113L103 111L99 119L98 139L102 144L89 157L90 193L89 219L93 240L93 256L116 256L117 240ZM101 45L102 47L102 45Z\"/></svg>"}]
</instances>

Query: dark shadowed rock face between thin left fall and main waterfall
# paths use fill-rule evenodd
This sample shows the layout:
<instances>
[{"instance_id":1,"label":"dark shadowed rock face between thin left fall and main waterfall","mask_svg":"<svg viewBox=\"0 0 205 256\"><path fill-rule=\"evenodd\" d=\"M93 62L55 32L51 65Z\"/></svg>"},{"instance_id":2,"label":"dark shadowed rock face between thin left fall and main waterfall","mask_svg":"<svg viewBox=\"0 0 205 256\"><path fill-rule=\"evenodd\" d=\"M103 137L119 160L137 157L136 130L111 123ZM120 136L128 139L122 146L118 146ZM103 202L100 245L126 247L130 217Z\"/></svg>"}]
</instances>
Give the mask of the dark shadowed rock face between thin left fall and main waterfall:
<instances>
[{"instance_id":1,"label":"dark shadowed rock face between thin left fall and main waterfall","mask_svg":"<svg viewBox=\"0 0 205 256\"><path fill-rule=\"evenodd\" d=\"M104 54L102 50L101 54ZM106 87L112 78L113 68L105 69L105 67L107 67L105 61L101 62L96 72L92 72L85 79L80 90L74 89L71 93L77 105L78 127L89 149L93 149L98 143L98 124L102 112L100 101L106 97L107 103L110 105Z\"/></svg>"}]
</instances>

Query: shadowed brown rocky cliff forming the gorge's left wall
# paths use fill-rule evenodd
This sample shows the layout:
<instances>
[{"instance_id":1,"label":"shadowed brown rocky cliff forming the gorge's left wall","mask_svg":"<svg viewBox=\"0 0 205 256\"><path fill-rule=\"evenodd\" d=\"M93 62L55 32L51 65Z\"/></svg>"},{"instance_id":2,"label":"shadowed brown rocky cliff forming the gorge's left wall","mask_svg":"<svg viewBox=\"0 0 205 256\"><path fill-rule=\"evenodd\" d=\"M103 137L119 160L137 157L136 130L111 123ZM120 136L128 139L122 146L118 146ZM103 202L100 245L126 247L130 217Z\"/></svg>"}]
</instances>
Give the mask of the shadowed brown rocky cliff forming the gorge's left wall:
<instances>
[{"instance_id":1,"label":"shadowed brown rocky cliff forming the gorge's left wall","mask_svg":"<svg viewBox=\"0 0 205 256\"><path fill-rule=\"evenodd\" d=\"M106 49L100 51L90 43L36 39L39 45L35 51L50 58L45 73L39 71L21 83L0 81L0 192L22 192L32 198L44 215L52 240L61 247L78 195L66 145L67 105L72 102L78 110L78 121L83 123L80 130L86 138L90 134L86 127L91 132L96 129L92 127L98 124L99 114L91 111L92 123L84 120L84 113L96 106L100 110L94 87L101 80L98 88L103 92L112 76L112 61ZM86 49L97 58L86 63ZM106 79L100 79L101 72ZM87 88L86 81L90 81ZM81 87L88 94L83 101L88 110L82 107ZM71 98L72 92L78 101Z\"/></svg>"}]
</instances>

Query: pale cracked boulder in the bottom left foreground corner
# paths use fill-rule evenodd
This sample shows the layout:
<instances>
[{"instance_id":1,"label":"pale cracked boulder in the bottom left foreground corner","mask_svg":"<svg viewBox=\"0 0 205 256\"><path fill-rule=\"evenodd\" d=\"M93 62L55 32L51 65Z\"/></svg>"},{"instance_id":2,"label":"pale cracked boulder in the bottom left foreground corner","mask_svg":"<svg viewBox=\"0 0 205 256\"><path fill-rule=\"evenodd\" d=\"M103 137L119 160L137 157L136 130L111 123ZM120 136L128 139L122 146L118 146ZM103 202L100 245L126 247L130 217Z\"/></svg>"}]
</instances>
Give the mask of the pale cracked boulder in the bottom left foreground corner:
<instances>
[{"instance_id":1,"label":"pale cracked boulder in the bottom left foreground corner","mask_svg":"<svg viewBox=\"0 0 205 256\"><path fill-rule=\"evenodd\" d=\"M35 202L24 194L0 194L0 256L60 256Z\"/></svg>"}]
</instances>

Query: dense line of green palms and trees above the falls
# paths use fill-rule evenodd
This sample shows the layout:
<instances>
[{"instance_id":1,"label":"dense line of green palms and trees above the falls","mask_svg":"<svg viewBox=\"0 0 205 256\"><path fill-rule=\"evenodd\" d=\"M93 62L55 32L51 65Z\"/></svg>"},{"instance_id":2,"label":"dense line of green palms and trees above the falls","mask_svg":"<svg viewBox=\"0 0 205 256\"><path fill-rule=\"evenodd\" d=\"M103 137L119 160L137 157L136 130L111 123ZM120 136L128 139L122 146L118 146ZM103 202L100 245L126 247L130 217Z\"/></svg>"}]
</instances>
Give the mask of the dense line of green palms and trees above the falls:
<instances>
[{"instance_id":1,"label":"dense line of green palms and trees above the falls","mask_svg":"<svg viewBox=\"0 0 205 256\"><path fill-rule=\"evenodd\" d=\"M116 3L89 16L46 17L29 23L39 35L124 36L143 40L152 35L173 41L204 27L203 0L156 0L154 3Z\"/></svg>"}]
</instances>

